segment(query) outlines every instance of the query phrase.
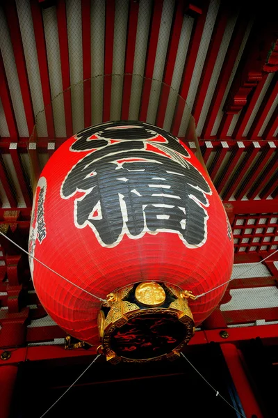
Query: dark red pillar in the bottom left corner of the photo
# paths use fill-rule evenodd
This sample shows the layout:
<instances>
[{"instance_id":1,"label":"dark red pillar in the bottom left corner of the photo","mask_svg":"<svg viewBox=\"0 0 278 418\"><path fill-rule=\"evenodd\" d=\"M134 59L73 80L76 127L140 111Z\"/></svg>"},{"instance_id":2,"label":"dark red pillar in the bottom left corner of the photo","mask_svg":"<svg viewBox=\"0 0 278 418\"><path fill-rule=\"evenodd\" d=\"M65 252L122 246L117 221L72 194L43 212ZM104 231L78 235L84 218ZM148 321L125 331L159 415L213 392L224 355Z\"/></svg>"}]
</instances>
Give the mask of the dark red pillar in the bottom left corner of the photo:
<instances>
[{"instance_id":1,"label":"dark red pillar in the bottom left corner of the photo","mask_svg":"<svg viewBox=\"0 0 278 418\"><path fill-rule=\"evenodd\" d=\"M17 366L0 366L0 418L8 418L13 388L17 378Z\"/></svg>"}]
</instances>

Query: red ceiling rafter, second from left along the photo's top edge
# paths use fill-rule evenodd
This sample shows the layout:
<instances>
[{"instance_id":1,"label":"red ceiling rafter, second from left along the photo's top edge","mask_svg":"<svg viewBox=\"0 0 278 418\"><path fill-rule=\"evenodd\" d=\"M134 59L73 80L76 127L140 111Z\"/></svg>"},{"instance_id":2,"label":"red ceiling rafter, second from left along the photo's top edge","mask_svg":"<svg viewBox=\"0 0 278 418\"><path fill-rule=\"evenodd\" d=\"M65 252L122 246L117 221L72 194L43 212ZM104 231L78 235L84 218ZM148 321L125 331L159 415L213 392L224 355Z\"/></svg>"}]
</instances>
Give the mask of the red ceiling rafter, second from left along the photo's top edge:
<instances>
[{"instance_id":1,"label":"red ceiling rafter, second from left along the photo's top edge","mask_svg":"<svg viewBox=\"0 0 278 418\"><path fill-rule=\"evenodd\" d=\"M42 85L42 98L45 107L45 118L47 121L47 132L49 138L55 138L54 118L51 104L51 91L49 83L49 72L47 64L47 47L44 38L44 26L42 21L42 10L37 0L31 0L31 12L33 17L33 28L35 33L35 44L37 46L38 63L40 69L40 82Z\"/></svg>"}]
</instances>

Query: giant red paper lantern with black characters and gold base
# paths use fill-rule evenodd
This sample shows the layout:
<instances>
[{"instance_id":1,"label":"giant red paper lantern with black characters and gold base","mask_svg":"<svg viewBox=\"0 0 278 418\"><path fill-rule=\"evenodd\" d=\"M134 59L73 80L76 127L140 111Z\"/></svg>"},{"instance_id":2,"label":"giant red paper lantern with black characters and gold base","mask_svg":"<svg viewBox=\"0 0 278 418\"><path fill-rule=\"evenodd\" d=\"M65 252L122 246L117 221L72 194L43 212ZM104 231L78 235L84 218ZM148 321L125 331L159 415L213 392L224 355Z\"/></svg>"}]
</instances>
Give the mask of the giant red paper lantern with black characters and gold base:
<instances>
[{"instance_id":1,"label":"giant red paper lantern with black characters and gold base","mask_svg":"<svg viewBox=\"0 0 278 418\"><path fill-rule=\"evenodd\" d=\"M89 127L56 150L36 189L29 251L79 286L30 258L49 315L117 361L177 353L219 304L226 286L211 289L234 258L202 164L172 134L130 121ZM81 288L112 295L101 305ZM193 318L185 290L211 291L188 300Z\"/></svg>"}]
</instances>

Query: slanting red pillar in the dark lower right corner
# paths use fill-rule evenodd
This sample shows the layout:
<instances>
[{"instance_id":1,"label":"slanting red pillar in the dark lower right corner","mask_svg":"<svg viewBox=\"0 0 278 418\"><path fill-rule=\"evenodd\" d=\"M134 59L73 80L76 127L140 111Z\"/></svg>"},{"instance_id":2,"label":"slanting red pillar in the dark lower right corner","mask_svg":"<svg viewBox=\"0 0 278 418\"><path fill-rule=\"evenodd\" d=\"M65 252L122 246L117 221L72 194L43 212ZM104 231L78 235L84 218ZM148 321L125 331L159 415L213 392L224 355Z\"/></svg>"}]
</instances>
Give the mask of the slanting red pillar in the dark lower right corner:
<instances>
[{"instance_id":1,"label":"slanting red pillar in the dark lower right corner","mask_svg":"<svg viewBox=\"0 0 278 418\"><path fill-rule=\"evenodd\" d=\"M234 381L236 391L238 392L240 402L243 405L246 418L252 418L253 416L263 418L263 414L256 402L250 382L243 369L239 350L236 346L234 346L234 344L229 343L221 344L221 349L229 368L229 372L231 373L231 378Z\"/></svg>"}]
</instances>

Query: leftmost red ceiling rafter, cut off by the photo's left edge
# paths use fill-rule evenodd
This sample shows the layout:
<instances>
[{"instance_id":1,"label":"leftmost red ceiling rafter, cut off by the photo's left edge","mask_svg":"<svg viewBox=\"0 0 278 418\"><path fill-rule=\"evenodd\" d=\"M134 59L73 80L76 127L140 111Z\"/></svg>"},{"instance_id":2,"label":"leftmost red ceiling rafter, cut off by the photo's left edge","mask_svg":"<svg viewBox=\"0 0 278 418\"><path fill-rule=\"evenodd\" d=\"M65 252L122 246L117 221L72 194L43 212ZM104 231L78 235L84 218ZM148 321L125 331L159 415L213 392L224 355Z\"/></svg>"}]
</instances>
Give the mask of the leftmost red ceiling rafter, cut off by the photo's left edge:
<instances>
[{"instance_id":1,"label":"leftmost red ceiling rafter, cut off by the photo's left edge","mask_svg":"<svg viewBox=\"0 0 278 418\"><path fill-rule=\"evenodd\" d=\"M17 130L17 122L15 120L15 113L13 111L13 102L10 97L10 91L8 88L8 80L6 77L5 68L3 65L3 59L0 51L0 97L3 105L3 111L6 116L8 130L10 132L10 138L12 141L17 141L19 134Z\"/></svg>"}]
</instances>

